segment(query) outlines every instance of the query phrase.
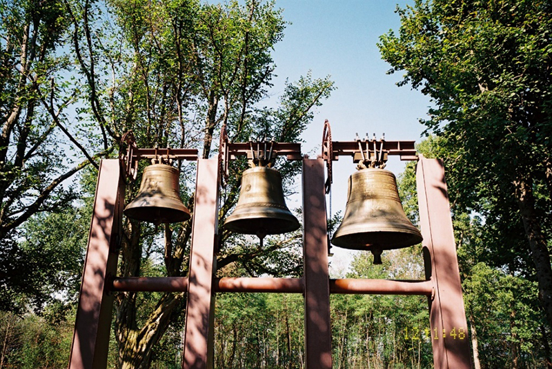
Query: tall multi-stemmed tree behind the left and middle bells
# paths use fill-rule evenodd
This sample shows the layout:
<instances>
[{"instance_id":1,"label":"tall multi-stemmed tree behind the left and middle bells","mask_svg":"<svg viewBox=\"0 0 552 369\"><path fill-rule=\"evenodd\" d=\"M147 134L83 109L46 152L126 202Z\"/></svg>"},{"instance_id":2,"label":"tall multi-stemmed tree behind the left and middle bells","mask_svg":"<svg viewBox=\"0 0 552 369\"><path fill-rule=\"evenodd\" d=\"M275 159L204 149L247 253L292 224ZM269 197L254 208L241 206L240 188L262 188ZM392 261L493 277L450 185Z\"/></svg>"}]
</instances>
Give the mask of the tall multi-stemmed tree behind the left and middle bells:
<instances>
[{"instance_id":1,"label":"tall multi-stemmed tree behind the left and middle bells","mask_svg":"<svg viewBox=\"0 0 552 369\"><path fill-rule=\"evenodd\" d=\"M108 16L104 16L108 10ZM196 0L110 1L106 5L66 2L74 63L86 90L81 118L99 127L98 145L121 145L132 130L139 147L197 147L202 158L216 152L218 131L226 123L230 140L274 137L297 141L312 118L311 109L327 98L333 83L310 75L288 83L280 105L260 107L275 65L270 53L283 36L284 21L274 3L251 0L224 6ZM104 21L105 19L105 21ZM181 196L192 211L193 165L178 162ZM222 196L222 224L237 201L237 162ZM297 163L279 163L290 178ZM128 199L137 193L128 187ZM162 260L157 275L186 275L191 222L157 229L125 220L119 275L144 275L151 260ZM219 267L239 263L248 273L274 270L272 261L297 271L297 257L282 251L297 236L267 240L259 251L245 238L219 231ZM115 337L122 368L148 368L154 346L175 321L184 294L152 294L150 303L137 293L117 296ZM144 309L142 309L144 307Z\"/></svg>"}]
</instances>

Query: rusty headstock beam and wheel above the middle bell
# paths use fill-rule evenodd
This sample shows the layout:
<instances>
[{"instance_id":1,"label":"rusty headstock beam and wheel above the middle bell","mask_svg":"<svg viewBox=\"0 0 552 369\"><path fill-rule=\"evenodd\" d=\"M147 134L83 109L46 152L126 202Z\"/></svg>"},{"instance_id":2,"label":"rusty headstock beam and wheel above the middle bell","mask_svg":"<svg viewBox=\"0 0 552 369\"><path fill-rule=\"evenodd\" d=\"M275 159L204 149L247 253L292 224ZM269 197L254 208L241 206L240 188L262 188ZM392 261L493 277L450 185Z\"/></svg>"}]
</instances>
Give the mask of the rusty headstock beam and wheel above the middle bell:
<instances>
[{"instance_id":1,"label":"rusty headstock beam and wheel above the middle bell","mask_svg":"<svg viewBox=\"0 0 552 369\"><path fill-rule=\"evenodd\" d=\"M232 143L228 138L226 125L222 126L219 143L219 169L223 185L228 182L228 162L236 160L238 156L246 156L250 165L271 167L277 156L286 156L288 160L302 160L300 143L277 143L262 138L249 140L246 143Z\"/></svg>"}]
</instances>

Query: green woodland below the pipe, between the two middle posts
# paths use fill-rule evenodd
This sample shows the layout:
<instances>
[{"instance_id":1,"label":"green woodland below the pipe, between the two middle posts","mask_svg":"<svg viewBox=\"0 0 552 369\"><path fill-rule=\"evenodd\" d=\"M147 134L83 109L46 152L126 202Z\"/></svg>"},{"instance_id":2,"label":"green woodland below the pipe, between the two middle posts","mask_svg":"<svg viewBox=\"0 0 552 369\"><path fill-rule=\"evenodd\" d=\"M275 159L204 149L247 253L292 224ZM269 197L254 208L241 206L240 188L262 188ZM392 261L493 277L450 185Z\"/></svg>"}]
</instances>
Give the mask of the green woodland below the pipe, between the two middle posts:
<instances>
[{"instance_id":1,"label":"green woodland below the pipe, between the two middle posts","mask_svg":"<svg viewBox=\"0 0 552 369\"><path fill-rule=\"evenodd\" d=\"M283 294L219 294L215 368L302 368L303 299Z\"/></svg>"}]
</instances>

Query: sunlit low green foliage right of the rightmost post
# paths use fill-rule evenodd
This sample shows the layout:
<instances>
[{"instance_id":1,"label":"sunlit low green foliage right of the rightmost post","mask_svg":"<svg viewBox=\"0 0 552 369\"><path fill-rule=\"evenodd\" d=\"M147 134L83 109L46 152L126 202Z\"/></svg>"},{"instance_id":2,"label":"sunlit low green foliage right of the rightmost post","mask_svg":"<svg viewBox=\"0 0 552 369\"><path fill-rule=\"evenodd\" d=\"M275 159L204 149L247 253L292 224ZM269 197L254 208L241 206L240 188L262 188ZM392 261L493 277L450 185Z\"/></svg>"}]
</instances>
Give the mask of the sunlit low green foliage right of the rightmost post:
<instances>
[{"instance_id":1,"label":"sunlit low green foliage right of the rightmost post","mask_svg":"<svg viewBox=\"0 0 552 369\"><path fill-rule=\"evenodd\" d=\"M478 263L463 282L464 302L477 330L482 368L544 368L544 321L536 296L536 282L507 275Z\"/></svg>"}]
</instances>

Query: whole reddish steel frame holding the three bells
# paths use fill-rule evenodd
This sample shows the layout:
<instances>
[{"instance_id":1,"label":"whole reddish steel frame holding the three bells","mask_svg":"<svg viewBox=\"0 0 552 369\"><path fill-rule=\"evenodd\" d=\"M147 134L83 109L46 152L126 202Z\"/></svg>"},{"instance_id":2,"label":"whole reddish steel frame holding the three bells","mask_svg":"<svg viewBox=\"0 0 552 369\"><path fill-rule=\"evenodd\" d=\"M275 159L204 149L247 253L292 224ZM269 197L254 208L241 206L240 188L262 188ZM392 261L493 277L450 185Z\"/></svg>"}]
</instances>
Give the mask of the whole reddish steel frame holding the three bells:
<instances>
[{"instance_id":1,"label":"whole reddish steel frame holding the three bells","mask_svg":"<svg viewBox=\"0 0 552 369\"><path fill-rule=\"evenodd\" d=\"M302 156L296 143L274 143L277 155L302 160L303 254L302 278L216 278L219 189L228 161L247 155L250 143L228 143L223 130L218 158L199 159L193 149L138 149L127 138L122 160L102 160L83 268L69 369L107 366L112 307L119 291L186 292L186 326L182 368L213 368L215 293L302 293L304 295L307 369L331 369L330 294L426 295L435 369L472 368L468 335L451 331L468 326L462 298L453 224L442 160L417 156L414 141L371 141L380 153L417 160L416 179L425 280L330 279L326 191L331 163L339 156L358 156L359 141L331 140L326 121L322 156ZM368 149L368 141L366 141ZM124 205L125 177L135 178L137 161L164 154L197 160L192 246L188 277L117 277L117 259ZM356 156L355 156L356 155ZM325 181L325 174L327 180ZM434 337L435 336L435 337Z\"/></svg>"}]
</instances>

